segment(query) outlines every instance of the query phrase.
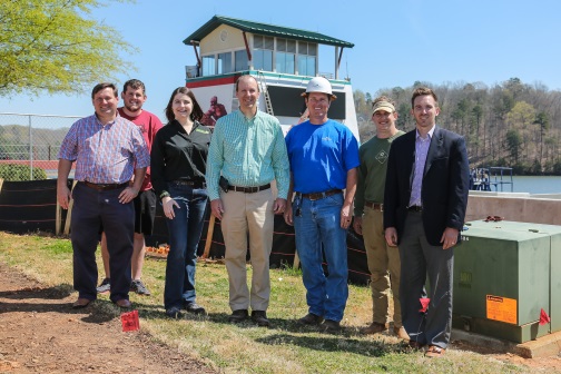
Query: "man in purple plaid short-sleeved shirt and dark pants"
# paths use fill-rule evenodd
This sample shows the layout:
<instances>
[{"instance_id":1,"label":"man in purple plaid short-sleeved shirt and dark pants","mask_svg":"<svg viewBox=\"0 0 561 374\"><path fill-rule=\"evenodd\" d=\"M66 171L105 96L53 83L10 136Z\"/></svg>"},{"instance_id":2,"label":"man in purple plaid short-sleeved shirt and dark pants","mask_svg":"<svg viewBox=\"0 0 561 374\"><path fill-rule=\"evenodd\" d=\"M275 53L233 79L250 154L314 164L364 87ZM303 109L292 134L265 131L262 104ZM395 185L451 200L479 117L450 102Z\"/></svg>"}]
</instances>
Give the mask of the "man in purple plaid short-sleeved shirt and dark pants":
<instances>
[{"instance_id":1,"label":"man in purple plaid short-sleeved shirt and dark pants","mask_svg":"<svg viewBox=\"0 0 561 374\"><path fill-rule=\"evenodd\" d=\"M110 255L110 298L117 306L129 308L132 199L140 190L150 155L138 126L118 115L114 83L94 87L91 99L96 112L70 127L58 155L58 201L68 209L73 198L70 238L78 299L72 307L85 307L97 298L96 249L102 228ZM68 175L73 161L78 183L70 193Z\"/></svg>"}]
</instances>

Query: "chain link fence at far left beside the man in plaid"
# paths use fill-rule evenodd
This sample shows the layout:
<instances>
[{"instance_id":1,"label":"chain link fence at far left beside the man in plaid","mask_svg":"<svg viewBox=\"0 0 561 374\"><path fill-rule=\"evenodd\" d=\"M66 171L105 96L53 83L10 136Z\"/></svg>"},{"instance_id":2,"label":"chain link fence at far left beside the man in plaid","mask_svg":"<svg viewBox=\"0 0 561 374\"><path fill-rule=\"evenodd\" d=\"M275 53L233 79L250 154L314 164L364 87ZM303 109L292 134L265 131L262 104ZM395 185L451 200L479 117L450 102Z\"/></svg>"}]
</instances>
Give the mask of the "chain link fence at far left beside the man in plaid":
<instances>
[{"instance_id":1,"label":"chain link fence at far left beside the man in plaid","mask_svg":"<svg viewBox=\"0 0 561 374\"><path fill-rule=\"evenodd\" d=\"M60 144L79 118L0 112L0 178L57 178Z\"/></svg>"}]
</instances>

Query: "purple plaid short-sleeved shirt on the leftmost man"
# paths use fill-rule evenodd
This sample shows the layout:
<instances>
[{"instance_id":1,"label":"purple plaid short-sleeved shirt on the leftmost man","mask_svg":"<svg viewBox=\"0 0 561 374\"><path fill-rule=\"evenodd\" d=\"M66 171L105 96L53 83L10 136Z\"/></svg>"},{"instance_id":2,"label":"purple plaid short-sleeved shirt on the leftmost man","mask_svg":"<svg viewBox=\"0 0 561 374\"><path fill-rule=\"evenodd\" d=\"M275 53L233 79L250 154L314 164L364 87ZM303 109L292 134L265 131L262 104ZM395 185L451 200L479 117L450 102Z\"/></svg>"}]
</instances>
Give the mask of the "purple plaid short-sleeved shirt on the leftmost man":
<instances>
[{"instance_id":1,"label":"purple plaid short-sleeved shirt on the leftmost man","mask_svg":"<svg viewBox=\"0 0 561 374\"><path fill-rule=\"evenodd\" d=\"M150 165L150 154L140 128L117 116L106 126L96 115L77 120L68 131L58 158L76 161L76 180L124 184L135 168Z\"/></svg>"}]
</instances>

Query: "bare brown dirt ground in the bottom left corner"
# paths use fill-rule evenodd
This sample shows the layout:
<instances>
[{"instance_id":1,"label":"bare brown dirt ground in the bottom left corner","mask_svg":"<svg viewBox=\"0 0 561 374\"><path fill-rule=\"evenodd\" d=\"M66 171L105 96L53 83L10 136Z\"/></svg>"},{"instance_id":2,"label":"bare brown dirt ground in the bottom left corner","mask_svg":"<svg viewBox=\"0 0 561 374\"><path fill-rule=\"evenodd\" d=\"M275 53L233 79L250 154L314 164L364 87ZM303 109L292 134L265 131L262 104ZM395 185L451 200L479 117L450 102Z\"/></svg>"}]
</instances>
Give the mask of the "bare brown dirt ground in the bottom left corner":
<instances>
[{"instance_id":1,"label":"bare brown dirt ground in the bottom left corner","mask_svg":"<svg viewBox=\"0 0 561 374\"><path fill-rule=\"evenodd\" d=\"M0 372L215 373L73 298L0 263Z\"/></svg>"}]
</instances>

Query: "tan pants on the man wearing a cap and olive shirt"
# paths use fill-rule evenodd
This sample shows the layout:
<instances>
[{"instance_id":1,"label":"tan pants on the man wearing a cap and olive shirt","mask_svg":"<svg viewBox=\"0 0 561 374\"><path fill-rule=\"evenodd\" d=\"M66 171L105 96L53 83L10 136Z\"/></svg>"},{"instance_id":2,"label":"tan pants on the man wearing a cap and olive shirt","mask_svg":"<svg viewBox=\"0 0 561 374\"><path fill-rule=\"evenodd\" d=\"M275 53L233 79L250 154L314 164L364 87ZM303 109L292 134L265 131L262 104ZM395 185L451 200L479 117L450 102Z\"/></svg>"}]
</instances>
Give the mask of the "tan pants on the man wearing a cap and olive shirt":
<instances>
[{"instance_id":1,"label":"tan pants on the man wearing a cap and olive shirt","mask_svg":"<svg viewBox=\"0 0 561 374\"><path fill-rule=\"evenodd\" d=\"M394 327L401 327L400 250L397 247L390 247L385 240L382 211L364 207L363 237L371 273L373 322L381 324L388 322L390 294L392 293Z\"/></svg>"}]
</instances>

